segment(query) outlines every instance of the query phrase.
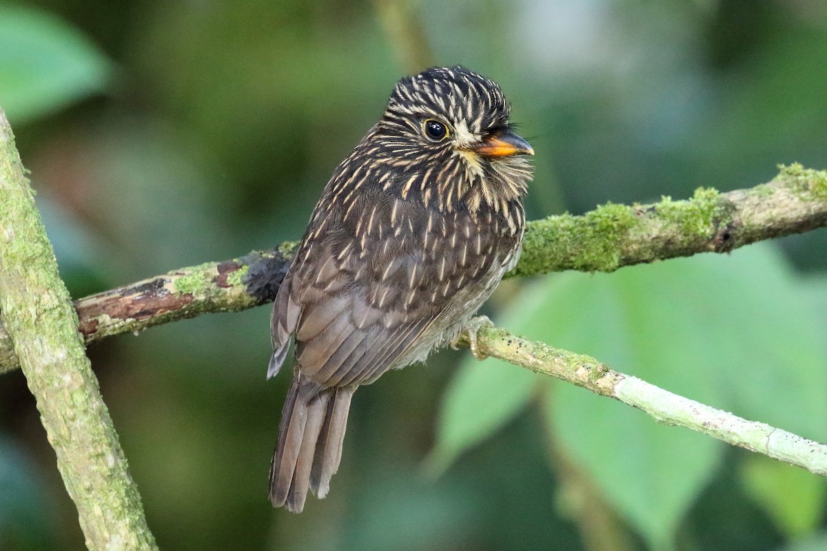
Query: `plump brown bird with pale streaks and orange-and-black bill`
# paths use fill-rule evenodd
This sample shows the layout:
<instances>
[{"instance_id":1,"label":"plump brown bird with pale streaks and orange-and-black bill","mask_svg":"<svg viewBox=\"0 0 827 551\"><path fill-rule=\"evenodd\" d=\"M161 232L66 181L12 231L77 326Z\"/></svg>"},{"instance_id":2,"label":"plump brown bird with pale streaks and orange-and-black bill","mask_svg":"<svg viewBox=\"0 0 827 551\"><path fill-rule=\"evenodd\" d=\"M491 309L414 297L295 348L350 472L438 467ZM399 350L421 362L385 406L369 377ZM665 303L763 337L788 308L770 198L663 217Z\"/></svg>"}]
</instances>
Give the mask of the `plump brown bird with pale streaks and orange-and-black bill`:
<instances>
[{"instance_id":1,"label":"plump brown bird with pale streaks and orange-and-black bill","mask_svg":"<svg viewBox=\"0 0 827 551\"><path fill-rule=\"evenodd\" d=\"M293 380L270 501L299 513L327 495L351 398L382 374L467 335L519 258L534 150L500 86L459 65L396 83L385 112L333 171L273 303L279 373Z\"/></svg>"}]
</instances>

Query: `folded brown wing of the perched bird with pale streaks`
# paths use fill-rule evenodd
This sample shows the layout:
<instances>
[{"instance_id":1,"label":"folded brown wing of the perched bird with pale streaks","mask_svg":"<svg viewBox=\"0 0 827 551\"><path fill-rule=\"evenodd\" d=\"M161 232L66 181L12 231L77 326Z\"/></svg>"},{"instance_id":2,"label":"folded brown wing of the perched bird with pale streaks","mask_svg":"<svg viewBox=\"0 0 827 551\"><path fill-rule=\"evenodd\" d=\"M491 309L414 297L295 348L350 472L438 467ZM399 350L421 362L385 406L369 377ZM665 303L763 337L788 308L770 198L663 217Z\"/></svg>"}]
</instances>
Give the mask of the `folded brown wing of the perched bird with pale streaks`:
<instances>
[{"instance_id":1,"label":"folded brown wing of the perched bird with pale streaks","mask_svg":"<svg viewBox=\"0 0 827 551\"><path fill-rule=\"evenodd\" d=\"M321 387L375 380L494 260L491 228L398 201L373 197L355 223L308 231L279 290L274 358L294 334L299 370Z\"/></svg>"}]
</instances>

